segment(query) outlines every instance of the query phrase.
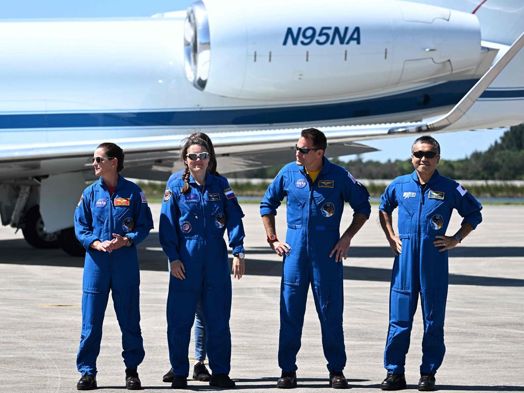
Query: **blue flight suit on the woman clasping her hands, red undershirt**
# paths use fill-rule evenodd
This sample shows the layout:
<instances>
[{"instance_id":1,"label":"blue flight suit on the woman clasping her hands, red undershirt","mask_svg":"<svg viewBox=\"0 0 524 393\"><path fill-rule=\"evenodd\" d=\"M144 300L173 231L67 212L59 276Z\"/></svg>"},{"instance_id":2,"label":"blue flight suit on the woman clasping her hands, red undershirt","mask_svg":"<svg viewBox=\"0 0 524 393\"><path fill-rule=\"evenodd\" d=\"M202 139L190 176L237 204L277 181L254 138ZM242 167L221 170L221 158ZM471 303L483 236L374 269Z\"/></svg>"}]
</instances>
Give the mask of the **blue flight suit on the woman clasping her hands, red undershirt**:
<instances>
[{"instance_id":1,"label":"blue flight suit on the woman clasping her hands, red undershirt","mask_svg":"<svg viewBox=\"0 0 524 393\"><path fill-rule=\"evenodd\" d=\"M77 356L79 372L96 375L102 323L109 291L122 331L122 357L126 368L136 369L144 359L140 332L140 271L136 245L153 227L146 195L138 185L118 176L113 195L102 178L82 193L74 214L74 230L85 247L82 283L82 333ZM130 247L111 253L90 248L95 240L114 239L113 233L133 239Z\"/></svg>"}]
</instances>

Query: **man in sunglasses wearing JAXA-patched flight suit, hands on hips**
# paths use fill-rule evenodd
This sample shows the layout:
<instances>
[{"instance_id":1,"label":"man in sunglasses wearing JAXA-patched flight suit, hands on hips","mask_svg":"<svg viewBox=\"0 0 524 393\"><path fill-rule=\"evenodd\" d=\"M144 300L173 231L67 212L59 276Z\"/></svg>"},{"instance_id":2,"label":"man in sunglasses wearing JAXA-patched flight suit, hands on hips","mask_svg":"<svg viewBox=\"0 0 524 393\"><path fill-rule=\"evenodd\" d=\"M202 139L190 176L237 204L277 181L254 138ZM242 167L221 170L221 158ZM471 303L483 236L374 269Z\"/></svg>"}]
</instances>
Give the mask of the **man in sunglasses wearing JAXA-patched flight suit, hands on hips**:
<instances>
[{"instance_id":1,"label":"man in sunglasses wearing JAXA-patched flight suit, hands on hips","mask_svg":"<svg viewBox=\"0 0 524 393\"><path fill-rule=\"evenodd\" d=\"M418 389L435 389L435 373L445 352L447 250L461 243L482 221L481 204L461 184L439 174L439 161L438 141L421 136L411 148L413 173L393 180L380 197L380 225L395 254L384 350L388 374L380 385L382 390L406 388L404 366L419 292L424 334ZM391 214L397 206L395 234ZM464 219L458 231L446 236L453 209Z\"/></svg>"}]
</instances>

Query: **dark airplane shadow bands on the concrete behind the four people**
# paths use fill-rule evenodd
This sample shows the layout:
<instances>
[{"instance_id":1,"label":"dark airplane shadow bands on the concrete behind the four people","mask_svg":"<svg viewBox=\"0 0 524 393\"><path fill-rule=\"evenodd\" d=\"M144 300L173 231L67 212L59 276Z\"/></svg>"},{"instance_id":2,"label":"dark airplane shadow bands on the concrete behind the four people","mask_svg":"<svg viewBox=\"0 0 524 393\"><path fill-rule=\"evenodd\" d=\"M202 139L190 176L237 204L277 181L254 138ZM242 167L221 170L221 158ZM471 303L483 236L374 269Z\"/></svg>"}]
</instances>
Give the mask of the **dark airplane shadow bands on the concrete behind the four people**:
<instances>
[{"instance_id":1,"label":"dark airplane shadow bands on the concrete behind the four people","mask_svg":"<svg viewBox=\"0 0 524 393\"><path fill-rule=\"evenodd\" d=\"M146 249L148 247L149 249ZM141 270L167 270L166 256L159 248L158 234L152 234L140 244L138 257ZM156 249L151 249L156 248ZM0 263L20 265L83 267L83 258L70 257L61 249L41 250L30 247L23 239L0 241ZM252 247L246 254L273 254L266 247ZM450 257L524 256L524 247L461 247L450 250ZM389 247L351 247L350 258L388 258L392 263ZM231 260L230 260L231 263ZM280 258L247 259L248 275L276 276L282 274ZM391 264L388 264L390 266ZM344 266L345 280L384 281L391 280L391 268ZM517 278L467 276L450 274L450 285L478 285L487 287L524 287L524 280Z\"/></svg>"}]
</instances>

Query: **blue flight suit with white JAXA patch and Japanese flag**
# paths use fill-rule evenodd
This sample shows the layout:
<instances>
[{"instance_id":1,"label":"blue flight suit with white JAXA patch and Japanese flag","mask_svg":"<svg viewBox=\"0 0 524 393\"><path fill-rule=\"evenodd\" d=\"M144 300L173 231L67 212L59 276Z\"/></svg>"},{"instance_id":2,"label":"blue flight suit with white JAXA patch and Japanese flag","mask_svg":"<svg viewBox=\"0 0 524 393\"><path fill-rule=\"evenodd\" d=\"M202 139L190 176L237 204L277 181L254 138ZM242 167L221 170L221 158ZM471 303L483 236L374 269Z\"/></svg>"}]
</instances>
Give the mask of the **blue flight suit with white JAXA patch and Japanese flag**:
<instances>
[{"instance_id":1,"label":"blue flight suit with white JAXA patch and Japanese flag","mask_svg":"<svg viewBox=\"0 0 524 393\"><path fill-rule=\"evenodd\" d=\"M402 374L408 353L418 295L423 314L421 373L435 374L444 358L444 313L447 297L447 250L435 247L436 235L445 235L453 209L473 228L482 221L482 206L462 186L437 170L426 185L417 171L388 185L379 210L398 210L398 236L402 253L393 265L389 329L384 351L388 373Z\"/></svg>"}]
</instances>

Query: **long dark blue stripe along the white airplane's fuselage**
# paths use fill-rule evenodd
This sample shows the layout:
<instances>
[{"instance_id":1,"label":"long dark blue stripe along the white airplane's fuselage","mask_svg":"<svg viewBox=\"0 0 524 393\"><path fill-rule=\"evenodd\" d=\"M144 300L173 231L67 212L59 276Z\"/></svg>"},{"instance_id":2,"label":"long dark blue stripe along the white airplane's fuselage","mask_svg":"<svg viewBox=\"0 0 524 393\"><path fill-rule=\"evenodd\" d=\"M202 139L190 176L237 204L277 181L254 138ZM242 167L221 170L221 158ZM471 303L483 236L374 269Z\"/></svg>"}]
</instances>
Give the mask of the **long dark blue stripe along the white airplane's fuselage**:
<instances>
[{"instance_id":1,"label":"long dark blue stripe along the white airplane's fuselage","mask_svg":"<svg viewBox=\"0 0 524 393\"><path fill-rule=\"evenodd\" d=\"M445 82L405 93L334 104L198 111L9 114L0 115L0 129L315 123L454 105L475 83L476 80ZM524 90L492 90L484 92L481 97L516 96L524 97Z\"/></svg>"}]
</instances>

